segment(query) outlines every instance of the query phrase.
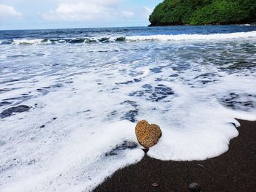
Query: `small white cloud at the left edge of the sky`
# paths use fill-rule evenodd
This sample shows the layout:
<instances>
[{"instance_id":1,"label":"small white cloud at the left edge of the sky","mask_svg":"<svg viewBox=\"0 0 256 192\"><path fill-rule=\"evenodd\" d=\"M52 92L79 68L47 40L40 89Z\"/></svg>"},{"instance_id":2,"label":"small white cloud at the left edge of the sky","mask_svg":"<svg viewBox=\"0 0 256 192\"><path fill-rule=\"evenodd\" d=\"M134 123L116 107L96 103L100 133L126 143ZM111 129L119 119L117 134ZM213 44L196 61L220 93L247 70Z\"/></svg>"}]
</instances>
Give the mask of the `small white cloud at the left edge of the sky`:
<instances>
[{"instance_id":1,"label":"small white cloud at the left edge of the sky","mask_svg":"<svg viewBox=\"0 0 256 192\"><path fill-rule=\"evenodd\" d=\"M0 4L0 20L10 18L22 18L22 13L16 11L12 6Z\"/></svg>"}]
</instances>

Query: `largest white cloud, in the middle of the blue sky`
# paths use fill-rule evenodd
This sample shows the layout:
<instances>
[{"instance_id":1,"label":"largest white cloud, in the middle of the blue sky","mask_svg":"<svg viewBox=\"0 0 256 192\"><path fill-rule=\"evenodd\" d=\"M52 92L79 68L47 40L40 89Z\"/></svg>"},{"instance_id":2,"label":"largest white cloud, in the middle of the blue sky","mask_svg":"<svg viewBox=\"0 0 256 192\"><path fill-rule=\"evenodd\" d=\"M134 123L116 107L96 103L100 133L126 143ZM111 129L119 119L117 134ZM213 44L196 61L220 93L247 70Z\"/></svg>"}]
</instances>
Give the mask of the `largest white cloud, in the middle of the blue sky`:
<instances>
[{"instance_id":1,"label":"largest white cloud, in the middle of the blue sky","mask_svg":"<svg viewBox=\"0 0 256 192\"><path fill-rule=\"evenodd\" d=\"M131 18L134 13L119 9L121 0L64 0L56 9L42 15L46 20L115 20Z\"/></svg>"}]
</instances>

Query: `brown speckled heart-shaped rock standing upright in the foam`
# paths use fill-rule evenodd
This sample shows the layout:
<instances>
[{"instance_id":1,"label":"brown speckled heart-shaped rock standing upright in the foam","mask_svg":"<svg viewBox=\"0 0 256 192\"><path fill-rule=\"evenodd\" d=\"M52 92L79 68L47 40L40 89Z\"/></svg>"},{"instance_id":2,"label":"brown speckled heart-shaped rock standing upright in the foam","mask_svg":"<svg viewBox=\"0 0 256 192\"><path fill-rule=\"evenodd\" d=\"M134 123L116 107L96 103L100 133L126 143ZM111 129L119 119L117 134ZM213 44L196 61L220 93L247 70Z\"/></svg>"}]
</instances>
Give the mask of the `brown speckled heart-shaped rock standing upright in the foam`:
<instances>
[{"instance_id":1,"label":"brown speckled heart-shaped rock standing upright in the foam","mask_svg":"<svg viewBox=\"0 0 256 192\"><path fill-rule=\"evenodd\" d=\"M156 145L158 139L162 136L159 126L149 124L146 120L140 120L135 127L135 134L138 142L147 149Z\"/></svg>"}]
</instances>

